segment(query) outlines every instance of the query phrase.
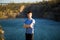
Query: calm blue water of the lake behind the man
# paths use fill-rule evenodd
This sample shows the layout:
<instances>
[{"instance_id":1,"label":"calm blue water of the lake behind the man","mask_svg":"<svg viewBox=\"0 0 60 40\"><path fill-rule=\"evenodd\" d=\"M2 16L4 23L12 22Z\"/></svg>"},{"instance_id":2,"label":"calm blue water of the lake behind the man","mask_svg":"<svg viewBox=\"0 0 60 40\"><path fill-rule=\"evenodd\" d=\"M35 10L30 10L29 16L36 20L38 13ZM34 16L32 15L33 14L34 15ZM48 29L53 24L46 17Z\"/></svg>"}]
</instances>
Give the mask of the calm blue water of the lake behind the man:
<instances>
[{"instance_id":1,"label":"calm blue water of the lake behind the man","mask_svg":"<svg viewBox=\"0 0 60 40\"><path fill-rule=\"evenodd\" d=\"M34 40L60 40L60 22L47 19L35 19ZM5 40L25 40L24 19L0 20L5 31Z\"/></svg>"}]
</instances>

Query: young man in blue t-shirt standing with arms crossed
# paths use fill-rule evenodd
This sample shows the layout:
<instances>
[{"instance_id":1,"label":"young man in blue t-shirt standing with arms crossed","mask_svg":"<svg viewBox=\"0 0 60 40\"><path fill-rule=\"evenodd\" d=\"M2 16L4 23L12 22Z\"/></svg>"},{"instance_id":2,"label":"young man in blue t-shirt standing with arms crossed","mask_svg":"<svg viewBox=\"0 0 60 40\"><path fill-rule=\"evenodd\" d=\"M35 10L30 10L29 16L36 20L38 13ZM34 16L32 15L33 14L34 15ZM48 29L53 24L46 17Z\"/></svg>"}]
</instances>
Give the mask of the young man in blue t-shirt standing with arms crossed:
<instances>
[{"instance_id":1,"label":"young man in blue t-shirt standing with arms crossed","mask_svg":"<svg viewBox=\"0 0 60 40\"><path fill-rule=\"evenodd\" d=\"M28 12L27 17L27 20L24 22L24 28L26 28L26 40L33 40L35 20L32 18L32 12Z\"/></svg>"}]
</instances>

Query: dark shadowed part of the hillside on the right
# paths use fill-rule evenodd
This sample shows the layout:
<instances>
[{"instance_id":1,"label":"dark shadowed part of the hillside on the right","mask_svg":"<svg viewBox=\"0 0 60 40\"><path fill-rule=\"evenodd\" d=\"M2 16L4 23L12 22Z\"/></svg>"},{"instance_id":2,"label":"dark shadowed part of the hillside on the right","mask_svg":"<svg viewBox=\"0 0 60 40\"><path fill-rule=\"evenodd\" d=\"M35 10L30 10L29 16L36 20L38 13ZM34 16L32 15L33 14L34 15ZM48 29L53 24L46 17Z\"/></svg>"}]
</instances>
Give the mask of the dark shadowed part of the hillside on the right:
<instances>
[{"instance_id":1,"label":"dark shadowed part of the hillside on the right","mask_svg":"<svg viewBox=\"0 0 60 40\"><path fill-rule=\"evenodd\" d=\"M23 13L26 14L28 11L33 12L34 18L46 18L60 21L60 3L48 3L40 2L37 4L30 4L26 6Z\"/></svg>"}]
</instances>

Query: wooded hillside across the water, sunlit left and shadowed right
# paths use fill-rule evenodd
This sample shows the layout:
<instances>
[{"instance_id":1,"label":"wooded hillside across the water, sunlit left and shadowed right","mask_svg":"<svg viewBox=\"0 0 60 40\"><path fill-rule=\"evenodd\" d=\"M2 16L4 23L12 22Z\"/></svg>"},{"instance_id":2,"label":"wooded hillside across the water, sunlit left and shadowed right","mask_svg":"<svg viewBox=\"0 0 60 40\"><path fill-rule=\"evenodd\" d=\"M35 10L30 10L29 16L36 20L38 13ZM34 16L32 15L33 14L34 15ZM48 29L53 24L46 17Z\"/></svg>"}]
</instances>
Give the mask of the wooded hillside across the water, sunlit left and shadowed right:
<instances>
[{"instance_id":1,"label":"wooded hillside across the water, sunlit left and shadowed right","mask_svg":"<svg viewBox=\"0 0 60 40\"><path fill-rule=\"evenodd\" d=\"M22 12L21 6L25 8ZM37 2L37 3L3 3L0 4L0 19L23 18L28 11L33 12L34 18L47 18L60 21L60 2Z\"/></svg>"}]
</instances>

